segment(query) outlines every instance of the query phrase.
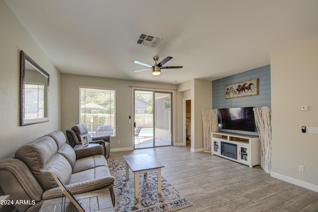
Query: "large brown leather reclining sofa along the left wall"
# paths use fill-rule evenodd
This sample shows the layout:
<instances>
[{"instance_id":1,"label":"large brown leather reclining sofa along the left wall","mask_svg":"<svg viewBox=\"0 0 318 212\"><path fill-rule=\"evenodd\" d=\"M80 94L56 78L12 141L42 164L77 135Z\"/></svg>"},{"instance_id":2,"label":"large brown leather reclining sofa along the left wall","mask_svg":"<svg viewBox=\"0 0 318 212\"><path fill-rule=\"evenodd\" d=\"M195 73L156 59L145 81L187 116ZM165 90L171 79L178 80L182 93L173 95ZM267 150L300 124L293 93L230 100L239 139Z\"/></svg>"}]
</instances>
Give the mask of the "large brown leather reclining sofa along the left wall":
<instances>
[{"instance_id":1,"label":"large brown leather reclining sofa along the left wall","mask_svg":"<svg viewBox=\"0 0 318 212\"><path fill-rule=\"evenodd\" d=\"M54 173L73 194L108 188L114 206L114 177L101 145L73 149L61 131L55 131L16 150L15 158L0 161L0 186L19 212L37 212L45 200L62 197Z\"/></svg>"}]
</instances>

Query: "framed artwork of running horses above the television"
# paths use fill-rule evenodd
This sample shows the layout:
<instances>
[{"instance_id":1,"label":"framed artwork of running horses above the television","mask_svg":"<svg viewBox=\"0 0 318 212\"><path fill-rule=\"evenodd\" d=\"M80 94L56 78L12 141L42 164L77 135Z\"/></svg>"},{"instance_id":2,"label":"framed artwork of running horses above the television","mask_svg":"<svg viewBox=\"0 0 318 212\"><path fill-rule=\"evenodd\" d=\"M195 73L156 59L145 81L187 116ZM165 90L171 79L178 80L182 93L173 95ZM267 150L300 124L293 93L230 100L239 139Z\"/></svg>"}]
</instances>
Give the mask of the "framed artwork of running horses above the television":
<instances>
[{"instance_id":1,"label":"framed artwork of running horses above the television","mask_svg":"<svg viewBox=\"0 0 318 212\"><path fill-rule=\"evenodd\" d=\"M226 99L256 96L257 94L257 78L225 86Z\"/></svg>"}]
</instances>

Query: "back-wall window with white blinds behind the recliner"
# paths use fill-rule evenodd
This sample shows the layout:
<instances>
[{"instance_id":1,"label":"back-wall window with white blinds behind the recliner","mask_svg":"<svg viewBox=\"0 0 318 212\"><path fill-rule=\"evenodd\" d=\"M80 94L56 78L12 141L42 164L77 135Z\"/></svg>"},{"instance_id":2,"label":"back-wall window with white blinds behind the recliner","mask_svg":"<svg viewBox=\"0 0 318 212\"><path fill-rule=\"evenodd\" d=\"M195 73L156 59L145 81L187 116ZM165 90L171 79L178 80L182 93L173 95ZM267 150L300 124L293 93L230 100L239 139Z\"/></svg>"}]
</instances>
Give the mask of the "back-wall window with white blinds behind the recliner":
<instances>
[{"instance_id":1,"label":"back-wall window with white blinds behind the recliner","mask_svg":"<svg viewBox=\"0 0 318 212\"><path fill-rule=\"evenodd\" d=\"M115 136L116 90L79 88L80 123L91 136Z\"/></svg>"}]
</instances>

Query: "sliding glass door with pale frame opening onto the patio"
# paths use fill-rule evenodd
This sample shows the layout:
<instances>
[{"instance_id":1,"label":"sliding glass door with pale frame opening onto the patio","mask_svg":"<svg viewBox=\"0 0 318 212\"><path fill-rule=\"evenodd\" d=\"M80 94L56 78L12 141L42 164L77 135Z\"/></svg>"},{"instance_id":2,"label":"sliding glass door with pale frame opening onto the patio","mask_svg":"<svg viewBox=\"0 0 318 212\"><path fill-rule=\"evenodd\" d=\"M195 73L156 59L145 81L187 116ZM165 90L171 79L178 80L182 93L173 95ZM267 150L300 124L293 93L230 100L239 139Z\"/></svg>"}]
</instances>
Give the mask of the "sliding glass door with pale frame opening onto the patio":
<instances>
[{"instance_id":1,"label":"sliding glass door with pale frame opening onto the patio","mask_svg":"<svg viewBox=\"0 0 318 212\"><path fill-rule=\"evenodd\" d=\"M135 90L135 149L172 144L171 93Z\"/></svg>"}]
</instances>

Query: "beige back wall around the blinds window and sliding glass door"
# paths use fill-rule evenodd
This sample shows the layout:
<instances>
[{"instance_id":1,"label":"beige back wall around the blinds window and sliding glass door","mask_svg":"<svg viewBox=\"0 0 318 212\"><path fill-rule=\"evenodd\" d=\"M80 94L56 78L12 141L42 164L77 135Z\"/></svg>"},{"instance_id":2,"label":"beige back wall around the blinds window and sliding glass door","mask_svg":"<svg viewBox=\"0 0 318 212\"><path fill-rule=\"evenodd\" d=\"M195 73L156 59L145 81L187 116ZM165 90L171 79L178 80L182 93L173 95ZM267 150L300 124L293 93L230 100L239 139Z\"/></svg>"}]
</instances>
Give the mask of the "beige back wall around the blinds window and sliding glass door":
<instances>
[{"instance_id":1,"label":"beige back wall around the blinds window and sliding glass door","mask_svg":"<svg viewBox=\"0 0 318 212\"><path fill-rule=\"evenodd\" d=\"M129 115L132 115L132 117L134 115L132 87L176 90L176 85L62 74L61 101L63 107L61 130L64 133L67 129L79 123L79 86L116 89L116 136L111 137L111 151L128 150L133 147L133 120L132 123L129 123L128 118ZM173 99L175 100L176 97L173 97ZM175 103L176 101L173 101L174 108L177 107ZM175 118L173 118L174 120ZM173 122L173 140L176 142L175 125L176 121ZM119 144L117 143L118 140L120 140Z\"/></svg>"}]
</instances>

